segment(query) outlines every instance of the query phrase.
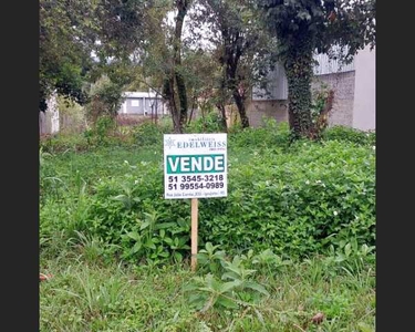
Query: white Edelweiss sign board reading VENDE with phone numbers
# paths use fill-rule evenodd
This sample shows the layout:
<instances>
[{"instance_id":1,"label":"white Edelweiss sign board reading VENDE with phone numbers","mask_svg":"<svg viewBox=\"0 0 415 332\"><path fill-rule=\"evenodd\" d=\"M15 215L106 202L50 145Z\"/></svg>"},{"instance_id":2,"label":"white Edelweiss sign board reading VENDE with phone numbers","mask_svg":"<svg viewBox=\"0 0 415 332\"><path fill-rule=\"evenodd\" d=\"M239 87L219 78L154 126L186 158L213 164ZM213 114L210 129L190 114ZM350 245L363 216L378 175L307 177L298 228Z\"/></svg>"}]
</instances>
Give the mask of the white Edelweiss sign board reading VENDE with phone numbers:
<instances>
[{"instance_id":1,"label":"white Edelweiss sign board reading VENDE with phone numbers","mask_svg":"<svg viewBox=\"0 0 415 332\"><path fill-rule=\"evenodd\" d=\"M227 134L164 135L166 199L227 195Z\"/></svg>"}]
</instances>

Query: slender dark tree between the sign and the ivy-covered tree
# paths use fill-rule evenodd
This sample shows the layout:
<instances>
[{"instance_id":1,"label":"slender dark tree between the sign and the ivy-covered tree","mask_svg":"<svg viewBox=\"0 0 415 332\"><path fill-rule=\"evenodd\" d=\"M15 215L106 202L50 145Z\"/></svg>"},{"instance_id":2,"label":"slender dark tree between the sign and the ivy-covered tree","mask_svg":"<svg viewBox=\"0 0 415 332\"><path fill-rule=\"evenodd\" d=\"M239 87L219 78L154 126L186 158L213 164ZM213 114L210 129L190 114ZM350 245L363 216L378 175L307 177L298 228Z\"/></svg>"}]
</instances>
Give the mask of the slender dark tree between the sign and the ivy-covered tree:
<instances>
[{"instance_id":1,"label":"slender dark tree between the sign and the ivy-covered tree","mask_svg":"<svg viewBox=\"0 0 415 332\"><path fill-rule=\"evenodd\" d=\"M249 127L245 102L253 84L263 76L272 59L272 40L259 24L250 0L201 0L194 24L204 22L211 30L221 68L217 107L225 118L225 105L232 98L242 127Z\"/></svg>"}]
</instances>

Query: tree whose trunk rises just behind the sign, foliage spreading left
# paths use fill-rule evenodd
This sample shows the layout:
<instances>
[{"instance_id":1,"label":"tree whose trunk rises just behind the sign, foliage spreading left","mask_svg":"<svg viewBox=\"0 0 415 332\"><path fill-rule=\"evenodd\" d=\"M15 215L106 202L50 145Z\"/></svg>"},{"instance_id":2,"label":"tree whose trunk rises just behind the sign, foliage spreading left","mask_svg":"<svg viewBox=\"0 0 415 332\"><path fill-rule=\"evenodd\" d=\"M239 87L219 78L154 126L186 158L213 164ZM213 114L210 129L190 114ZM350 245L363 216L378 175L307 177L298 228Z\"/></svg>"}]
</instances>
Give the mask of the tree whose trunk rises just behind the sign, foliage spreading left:
<instances>
[{"instance_id":1,"label":"tree whose trunk rises just behind the sign, foliage spreading left","mask_svg":"<svg viewBox=\"0 0 415 332\"><path fill-rule=\"evenodd\" d=\"M174 129L187 120L187 90L181 66L181 34L190 0L106 0L97 9L102 25L101 58L108 54L142 66L136 81L158 91L168 104ZM174 24L165 19L175 11ZM155 86L157 85L157 86Z\"/></svg>"}]
</instances>

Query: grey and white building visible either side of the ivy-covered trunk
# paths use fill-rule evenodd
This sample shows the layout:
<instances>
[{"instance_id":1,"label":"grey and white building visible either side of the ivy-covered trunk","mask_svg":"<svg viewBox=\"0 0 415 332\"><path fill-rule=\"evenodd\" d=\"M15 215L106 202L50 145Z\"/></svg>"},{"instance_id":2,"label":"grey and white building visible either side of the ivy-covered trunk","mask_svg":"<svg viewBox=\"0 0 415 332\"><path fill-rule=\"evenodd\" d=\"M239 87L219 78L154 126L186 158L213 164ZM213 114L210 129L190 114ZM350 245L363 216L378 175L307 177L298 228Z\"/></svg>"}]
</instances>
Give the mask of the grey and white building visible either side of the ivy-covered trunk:
<instances>
[{"instance_id":1,"label":"grey and white building visible either side of the ivy-covered trunk","mask_svg":"<svg viewBox=\"0 0 415 332\"><path fill-rule=\"evenodd\" d=\"M334 91L334 103L329 125L344 125L359 129L375 129L375 50L360 51L352 63L342 65L325 54L317 54L312 89L322 84ZM267 93L268 91L268 93ZM267 91L256 87L247 103L250 124L259 126L262 118L288 121L288 84L282 65L268 75Z\"/></svg>"}]
</instances>

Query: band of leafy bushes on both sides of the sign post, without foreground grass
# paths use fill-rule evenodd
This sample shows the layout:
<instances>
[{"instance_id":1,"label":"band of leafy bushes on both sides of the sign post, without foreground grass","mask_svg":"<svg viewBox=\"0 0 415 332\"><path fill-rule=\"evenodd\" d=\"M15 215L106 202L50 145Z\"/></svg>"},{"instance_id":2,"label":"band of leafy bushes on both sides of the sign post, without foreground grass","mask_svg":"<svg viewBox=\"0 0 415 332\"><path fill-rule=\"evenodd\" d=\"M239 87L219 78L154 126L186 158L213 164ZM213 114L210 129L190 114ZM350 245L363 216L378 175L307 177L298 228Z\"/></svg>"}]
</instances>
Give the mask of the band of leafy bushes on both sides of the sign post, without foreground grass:
<instances>
[{"instance_id":1,"label":"band of leafy bushes on both sides of the sign post, without foreground grass","mask_svg":"<svg viewBox=\"0 0 415 332\"><path fill-rule=\"evenodd\" d=\"M143 138L157 138L154 144L162 139L158 127L141 129ZM200 246L209 241L229 253L272 249L292 257L322 252L344 239L374 246L374 149L338 139L295 142L281 149L276 142L288 139L283 127L229 136L228 197L200 199ZM106 154L100 158L114 158L112 151ZM181 260L189 255L190 206L188 200L164 199L163 158L157 154L151 162L111 166L114 170L108 168L86 188L84 200L79 198L80 189L74 194L71 189L64 199L62 191L60 197L49 195L42 207L44 232L52 234L54 222L48 205L59 199L63 210L59 229L71 225L73 231L118 248L124 259ZM89 160L90 168L96 169L96 156Z\"/></svg>"}]
</instances>

